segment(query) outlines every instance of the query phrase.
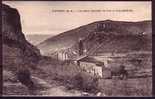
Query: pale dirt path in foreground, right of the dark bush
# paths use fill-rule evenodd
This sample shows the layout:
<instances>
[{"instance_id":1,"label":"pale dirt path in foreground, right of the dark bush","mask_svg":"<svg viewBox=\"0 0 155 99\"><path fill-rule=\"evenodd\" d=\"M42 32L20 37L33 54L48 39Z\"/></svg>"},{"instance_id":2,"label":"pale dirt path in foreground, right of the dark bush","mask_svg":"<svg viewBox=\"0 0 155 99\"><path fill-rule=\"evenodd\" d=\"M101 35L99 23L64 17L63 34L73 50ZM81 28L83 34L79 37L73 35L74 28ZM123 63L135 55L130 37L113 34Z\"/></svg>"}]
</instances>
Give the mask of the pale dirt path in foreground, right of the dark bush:
<instances>
[{"instance_id":1,"label":"pale dirt path in foreground, right of the dark bush","mask_svg":"<svg viewBox=\"0 0 155 99\"><path fill-rule=\"evenodd\" d=\"M32 77L37 89L32 94L44 96L81 96L81 92L77 90L67 90L65 86L50 85L43 79Z\"/></svg>"}]
</instances>

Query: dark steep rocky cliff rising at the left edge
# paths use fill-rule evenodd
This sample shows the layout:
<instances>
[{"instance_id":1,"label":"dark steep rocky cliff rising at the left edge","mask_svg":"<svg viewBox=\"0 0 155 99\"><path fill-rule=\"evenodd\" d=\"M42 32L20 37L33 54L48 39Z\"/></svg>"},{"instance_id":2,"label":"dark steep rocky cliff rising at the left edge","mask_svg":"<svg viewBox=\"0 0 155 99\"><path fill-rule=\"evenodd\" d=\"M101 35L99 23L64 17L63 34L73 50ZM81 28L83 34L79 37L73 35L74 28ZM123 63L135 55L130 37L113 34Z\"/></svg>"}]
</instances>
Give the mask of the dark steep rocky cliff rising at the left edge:
<instances>
[{"instance_id":1,"label":"dark steep rocky cliff rising at the left edge","mask_svg":"<svg viewBox=\"0 0 155 99\"><path fill-rule=\"evenodd\" d=\"M4 69L16 71L37 64L40 51L25 39L18 11L5 4L2 4L2 38Z\"/></svg>"}]
</instances>

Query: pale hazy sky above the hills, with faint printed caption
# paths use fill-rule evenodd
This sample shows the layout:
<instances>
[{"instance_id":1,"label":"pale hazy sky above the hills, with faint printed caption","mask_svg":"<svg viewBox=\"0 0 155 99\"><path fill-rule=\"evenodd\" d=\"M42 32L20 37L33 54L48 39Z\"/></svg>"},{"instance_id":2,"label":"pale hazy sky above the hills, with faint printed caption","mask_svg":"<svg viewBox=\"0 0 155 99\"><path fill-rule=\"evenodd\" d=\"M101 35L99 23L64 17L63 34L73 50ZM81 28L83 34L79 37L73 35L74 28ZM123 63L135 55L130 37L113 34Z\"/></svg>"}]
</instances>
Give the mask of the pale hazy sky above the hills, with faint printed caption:
<instances>
[{"instance_id":1,"label":"pale hazy sky above the hills, with faint printed caption","mask_svg":"<svg viewBox=\"0 0 155 99\"><path fill-rule=\"evenodd\" d=\"M151 20L151 2L110 1L4 1L17 8L25 34L59 34L81 25L101 20ZM55 12L72 10L73 12ZM88 10L89 12L79 12ZM91 12L92 10L102 10ZM109 10L112 10L109 12ZM117 11L115 11L117 10ZM121 11L118 10L130 10Z\"/></svg>"}]
</instances>

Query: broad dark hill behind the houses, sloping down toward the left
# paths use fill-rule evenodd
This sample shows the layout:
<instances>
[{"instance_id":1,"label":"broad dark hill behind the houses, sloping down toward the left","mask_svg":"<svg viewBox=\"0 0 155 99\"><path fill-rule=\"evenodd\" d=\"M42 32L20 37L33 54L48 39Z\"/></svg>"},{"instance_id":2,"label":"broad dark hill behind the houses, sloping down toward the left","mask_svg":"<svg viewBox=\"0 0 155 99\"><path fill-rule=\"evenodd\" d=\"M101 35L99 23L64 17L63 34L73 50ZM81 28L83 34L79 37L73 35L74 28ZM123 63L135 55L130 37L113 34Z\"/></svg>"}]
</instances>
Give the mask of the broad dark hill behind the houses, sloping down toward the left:
<instances>
[{"instance_id":1,"label":"broad dark hill behind the houses, sloping down toward the left","mask_svg":"<svg viewBox=\"0 0 155 99\"><path fill-rule=\"evenodd\" d=\"M87 50L101 43L101 50L106 52L111 52L111 48L117 51L151 50L151 24L151 21L98 21L51 37L37 46L46 55L76 46L79 38L82 38Z\"/></svg>"}]
</instances>

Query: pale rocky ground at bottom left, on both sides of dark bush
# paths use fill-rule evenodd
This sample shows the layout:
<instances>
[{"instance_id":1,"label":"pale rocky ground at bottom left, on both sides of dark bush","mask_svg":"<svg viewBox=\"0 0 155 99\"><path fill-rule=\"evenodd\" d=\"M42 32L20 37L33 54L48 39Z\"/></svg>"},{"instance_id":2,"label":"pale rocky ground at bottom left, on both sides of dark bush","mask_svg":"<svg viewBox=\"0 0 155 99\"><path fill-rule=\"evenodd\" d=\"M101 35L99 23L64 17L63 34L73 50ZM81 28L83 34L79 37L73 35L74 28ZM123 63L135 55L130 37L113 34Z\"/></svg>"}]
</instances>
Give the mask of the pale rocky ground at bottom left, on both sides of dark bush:
<instances>
[{"instance_id":1,"label":"pale rocky ground at bottom left, on both sides of dark bush","mask_svg":"<svg viewBox=\"0 0 155 99\"><path fill-rule=\"evenodd\" d=\"M6 71L5 71L6 72ZM8 71L7 71L8 73ZM77 90L67 91L65 86L58 86L55 83L49 84L43 79L38 77L32 77L36 88L34 90L28 90L26 86L18 82L13 74L4 74L8 81L3 84L4 96L21 96L21 95L35 95L35 96L81 96L81 92ZM11 89L11 90L10 90Z\"/></svg>"}]
</instances>

